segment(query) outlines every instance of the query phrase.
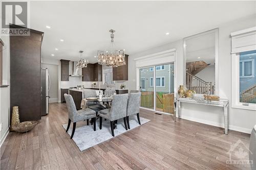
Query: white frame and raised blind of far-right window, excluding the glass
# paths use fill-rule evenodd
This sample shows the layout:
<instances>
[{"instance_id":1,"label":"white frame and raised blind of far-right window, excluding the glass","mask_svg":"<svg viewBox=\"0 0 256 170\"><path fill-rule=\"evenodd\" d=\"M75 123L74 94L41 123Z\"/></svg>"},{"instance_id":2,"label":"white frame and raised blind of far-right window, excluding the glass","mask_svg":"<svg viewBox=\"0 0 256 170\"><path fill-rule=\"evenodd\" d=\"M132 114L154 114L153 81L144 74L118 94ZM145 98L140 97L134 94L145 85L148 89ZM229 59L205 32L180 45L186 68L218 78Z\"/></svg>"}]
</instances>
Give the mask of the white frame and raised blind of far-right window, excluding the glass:
<instances>
[{"instance_id":1,"label":"white frame and raised blind of far-right window, excluding the glass","mask_svg":"<svg viewBox=\"0 0 256 170\"><path fill-rule=\"evenodd\" d=\"M231 33L231 107L256 110L256 104L240 102L240 53L256 50L252 44L256 37L256 27ZM253 64L254 67L254 64ZM252 68L253 68L252 67ZM242 68L243 70L243 68ZM254 74L254 70L253 70Z\"/></svg>"}]
</instances>

